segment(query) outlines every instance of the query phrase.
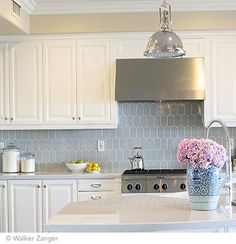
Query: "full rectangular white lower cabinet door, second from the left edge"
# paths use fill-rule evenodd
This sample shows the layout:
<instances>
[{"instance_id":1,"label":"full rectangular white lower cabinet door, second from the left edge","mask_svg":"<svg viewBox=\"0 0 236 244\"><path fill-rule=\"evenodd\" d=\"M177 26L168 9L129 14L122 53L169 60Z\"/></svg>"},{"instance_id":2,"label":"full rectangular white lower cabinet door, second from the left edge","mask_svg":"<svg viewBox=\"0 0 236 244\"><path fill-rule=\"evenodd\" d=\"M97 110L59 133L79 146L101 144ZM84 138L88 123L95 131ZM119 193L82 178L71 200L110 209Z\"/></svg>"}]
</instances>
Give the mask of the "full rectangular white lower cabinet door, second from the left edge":
<instances>
[{"instance_id":1,"label":"full rectangular white lower cabinet door, second from the left edge","mask_svg":"<svg viewBox=\"0 0 236 244\"><path fill-rule=\"evenodd\" d=\"M42 231L42 181L9 180L9 231Z\"/></svg>"}]
</instances>

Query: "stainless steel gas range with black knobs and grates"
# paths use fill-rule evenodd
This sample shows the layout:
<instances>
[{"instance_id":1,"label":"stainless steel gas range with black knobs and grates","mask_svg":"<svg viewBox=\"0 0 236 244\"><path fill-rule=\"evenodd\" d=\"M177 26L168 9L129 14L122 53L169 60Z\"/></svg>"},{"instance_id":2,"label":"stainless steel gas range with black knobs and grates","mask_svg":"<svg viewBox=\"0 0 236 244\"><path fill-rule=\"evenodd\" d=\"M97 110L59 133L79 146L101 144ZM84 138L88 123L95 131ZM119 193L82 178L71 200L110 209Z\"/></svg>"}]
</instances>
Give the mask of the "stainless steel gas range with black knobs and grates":
<instances>
[{"instance_id":1,"label":"stainless steel gas range with black knobs and grates","mask_svg":"<svg viewBox=\"0 0 236 244\"><path fill-rule=\"evenodd\" d=\"M122 193L163 193L186 191L186 169L125 170Z\"/></svg>"}]
</instances>

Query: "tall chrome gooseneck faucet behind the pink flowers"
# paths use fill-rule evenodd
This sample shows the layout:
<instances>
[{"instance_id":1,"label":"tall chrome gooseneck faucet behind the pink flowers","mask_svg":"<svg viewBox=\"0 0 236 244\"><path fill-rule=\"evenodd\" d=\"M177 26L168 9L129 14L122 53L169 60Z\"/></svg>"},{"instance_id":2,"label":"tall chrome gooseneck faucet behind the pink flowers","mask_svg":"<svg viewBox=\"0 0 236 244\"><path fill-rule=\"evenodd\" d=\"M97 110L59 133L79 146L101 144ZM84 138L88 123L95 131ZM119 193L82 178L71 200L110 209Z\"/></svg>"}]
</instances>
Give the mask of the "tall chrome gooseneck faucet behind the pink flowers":
<instances>
[{"instance_id":1,"label":"tall chrome gooseneck faucet behind the pink flowers","mask_svg":"<svg viewBox=\"0 0 236 244\"><path fill-rule=\"evenodd\" d=\"M222 126L225 134L225 139L226 139L226 151L228 155L228 160L226 162L226 181L225 181L225 186L228 187L228 193L229 193L229 203L228 204L233 204L235 203L232 201L232 162L231 162L231 148L230 148L230 135L229 135L229 130L225 123L219 119L214 119L210 122L210 124L207 127L207 138L209 137L209 132L211 129L211 126L213 123L218 123Z\"/></svg>"}]
</instances>

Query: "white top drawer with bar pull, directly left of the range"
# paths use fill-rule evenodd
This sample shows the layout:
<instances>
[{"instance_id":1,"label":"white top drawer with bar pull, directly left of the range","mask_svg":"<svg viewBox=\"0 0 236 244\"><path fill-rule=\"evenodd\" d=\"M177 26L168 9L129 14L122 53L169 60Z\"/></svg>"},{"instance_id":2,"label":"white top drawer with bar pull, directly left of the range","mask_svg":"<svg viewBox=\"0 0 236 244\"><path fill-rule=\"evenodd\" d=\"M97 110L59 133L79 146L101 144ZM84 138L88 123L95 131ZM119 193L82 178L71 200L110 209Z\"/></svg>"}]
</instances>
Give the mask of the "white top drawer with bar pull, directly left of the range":
<instances>
[{"instance_id":1,"label":"white top drawer with bar pull, directly left of the range","mask_svg":"<svg viewBox=\"0 0 236 244\"><path fill-rule=\"evenodd\" d=\"M78 180L78 191L114 191L119 187L115 179Z\"/></svg>"}]
</instances>

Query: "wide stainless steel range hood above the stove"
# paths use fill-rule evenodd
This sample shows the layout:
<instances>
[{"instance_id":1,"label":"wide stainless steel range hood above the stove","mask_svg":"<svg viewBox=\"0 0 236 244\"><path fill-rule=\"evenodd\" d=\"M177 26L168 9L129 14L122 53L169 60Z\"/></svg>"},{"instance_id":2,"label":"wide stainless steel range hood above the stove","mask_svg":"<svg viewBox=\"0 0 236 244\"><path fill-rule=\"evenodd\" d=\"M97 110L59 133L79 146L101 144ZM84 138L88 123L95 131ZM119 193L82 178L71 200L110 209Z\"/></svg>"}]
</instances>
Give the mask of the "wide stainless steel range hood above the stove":
<instances>
[{"instance_id":1,"label":"wide stainless steel range hood above the stove","mask_svg":"<svg viewBox=\"0 0 236 244\"><path fill-rule=\"evenodd\" d=\"M204 100L203 58L117 59L116 101Z\"/></svg>"}]
</instances>

